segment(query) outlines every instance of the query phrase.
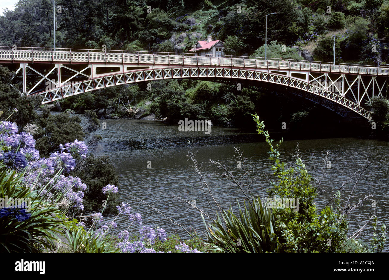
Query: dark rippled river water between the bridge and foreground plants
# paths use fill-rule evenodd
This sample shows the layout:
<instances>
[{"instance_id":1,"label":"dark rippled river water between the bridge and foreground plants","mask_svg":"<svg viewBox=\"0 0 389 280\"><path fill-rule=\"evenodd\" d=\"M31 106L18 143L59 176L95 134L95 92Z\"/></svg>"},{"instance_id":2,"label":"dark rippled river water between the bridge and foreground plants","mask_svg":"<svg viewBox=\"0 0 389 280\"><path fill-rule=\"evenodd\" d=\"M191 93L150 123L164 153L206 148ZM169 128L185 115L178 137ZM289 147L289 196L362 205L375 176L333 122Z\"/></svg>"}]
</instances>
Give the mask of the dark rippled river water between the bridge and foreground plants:
<instances>
[{"instance_id":1,"label":"dark rippled river water between the bridge and foreground plants","mask_svg":"<svg viewBox=\"0 0 389 280\"><path fill-rule=\"evenodd\" d=\"M238 176L242 169L237 168L234 147L239 147L247 158L246 165L252 168L249 176L255 179L251 187L253 195L265 195L270 182L275 180L271 170L272 162L268 159L269 146L261 142L256 133L212 126L207 135L204 131L179 131L178 126L158 121L119 119L101 120L100 123L102 122L106 123L106 129L98 130L103 137L100 142L101 154L108 155L110 162L117 168L120 199L130 203L134 213L142 214L144 225L158 225L168 233L178 233L184 239L187 238L187 233L180 226L131 195L144 200L188 230L202 232L204 226L200 213L189 204L172 197L176 195L190 202L196 200L197 207L207 213L211 212L193 162L188 161L189 139L193 141L193 151L198 164L202 166L200 170L205 181L222 207L232 205L236 210L237 199L243 201L244 195L237 185L232 185L230 180L222 176L224 171L217 169L209 159L225 164ZM351 203L355 203L365 195L372 195L349 215L349 236L363 226L374 211L380 222L388 224L388 142L357 138L285 140L280 151L282 160L288 166L294 162L298 143L300 157L314 178L322 175L321 167L324 166L325 153L329 150L331 168L326 169L328 176L322 178L319 190L325 191L320 192L316 200L319 210L350 175L366 165L366 156L369 160L374 160L357 183L350 199ZM151 168L147 168L150 163ZM317 185L315 181L312 183ZM353 185L354 182L345 185L341 197L342 206ZM375 206L372 206L372 200L375 200ZM116 221L118 230L124 230L129 225L128 219L124 217ZM137 226L133 225L131 228L137 229ZM358 238L369 242L373 230L371 222L365 228Z\"/></svg>"}]
</instances>

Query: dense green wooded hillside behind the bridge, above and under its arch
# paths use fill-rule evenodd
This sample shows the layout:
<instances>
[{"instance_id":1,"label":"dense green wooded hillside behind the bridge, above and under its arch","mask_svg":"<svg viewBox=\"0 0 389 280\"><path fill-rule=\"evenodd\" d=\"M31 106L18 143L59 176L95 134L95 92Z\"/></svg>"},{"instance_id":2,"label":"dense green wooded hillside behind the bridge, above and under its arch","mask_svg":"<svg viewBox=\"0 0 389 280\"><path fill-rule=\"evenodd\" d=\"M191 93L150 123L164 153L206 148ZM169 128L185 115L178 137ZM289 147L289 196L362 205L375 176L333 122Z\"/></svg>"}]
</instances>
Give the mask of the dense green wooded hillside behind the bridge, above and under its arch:
<instances>
[{"instance_id":1,"label":"dense green wooded hillside behind the bridge, above and under its arch","mask_svg":"<svg viewBox=\"0 0 389 280\"><path fill-rule=\"evenodd\" d=\"M212 35L214 40L225 43L227 55L263 57L265 15L277 12L267 18L268 57L304 59L299 50L293 48L298 46L315 60L332 61L333 35L336 36L337 62L385 64L389 55L388 48L380 45L388 43L389 38L388 0L81 0L77 3L61 0L58 5L57 48L187 52L197 40L206 40L207 35ZM48 0L20 1L14 11L7 11L0 17L0 44L52 47L52 26L53 10ZM6 88L0 92L9 92L9 97L11 93L18 94L16 88L5 84ZM289 121L290 131L298 129L293 114L299 111L306 111L311 118L322 114L329 119L338 118L326 110L319 112L315 105L307 106L304 99L281 94L270 85L252 88L244 83L238 89L237 82L220 85L208 81L152 81L150 84L151 87L148 83L139 83L104 88L68 97L60 100L60 104L62 111L92 110L100 119L139 119L155 114L156 118L167 117L170 123L193 118L238 127L251 127L250 114L260 112L269 129L279 129L280 122ZM12 100L16 99L8 98L8 103L2 105L3 111L14 106ZM278 106L267 105L275 100ZM302 101L305 105L301 105ZM21 99L20 102L25 104L24 109L21 107L12 118L22 125L28 119L21 118L32 116L32 108L37 108L39 100L31 99L28 103ZM50 129L48 127L47 131ZM77 137L81 138L81 134ZM49 141L47 136L42 144L44 141Z\"/></svg>"}]
</instances>

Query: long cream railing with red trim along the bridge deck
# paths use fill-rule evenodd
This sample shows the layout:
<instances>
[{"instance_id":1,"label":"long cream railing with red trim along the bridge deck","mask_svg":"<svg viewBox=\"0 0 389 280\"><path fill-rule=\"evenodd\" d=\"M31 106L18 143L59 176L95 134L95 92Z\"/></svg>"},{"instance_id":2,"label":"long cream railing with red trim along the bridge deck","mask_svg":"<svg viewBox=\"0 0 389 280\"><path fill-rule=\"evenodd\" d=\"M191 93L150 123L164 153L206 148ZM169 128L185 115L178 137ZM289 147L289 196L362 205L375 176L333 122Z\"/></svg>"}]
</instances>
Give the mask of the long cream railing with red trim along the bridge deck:
<instances>
[{"instance_id":1,"label":"long cream railing with red trim along the bridge deck","mask_svg":"<svg viewBox=\"0 0 389 280\"><path fill-rule=\"evenodd\" d=\"M0 61L10 62L57 62L57 63L128 63L128 64L168 64L196 66L225 66L245 68L268 68L298 71L317 71L350 74L389 76L388 67L361 66L353 64L329 64L328 62L306 60L263 59L257 57L212 57L193 54L160 54L136 52L95 52L89 50L14 50L1 49Z\"/></svg>"}]
</instances>

